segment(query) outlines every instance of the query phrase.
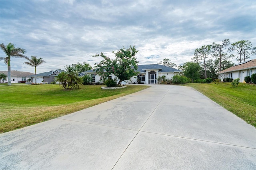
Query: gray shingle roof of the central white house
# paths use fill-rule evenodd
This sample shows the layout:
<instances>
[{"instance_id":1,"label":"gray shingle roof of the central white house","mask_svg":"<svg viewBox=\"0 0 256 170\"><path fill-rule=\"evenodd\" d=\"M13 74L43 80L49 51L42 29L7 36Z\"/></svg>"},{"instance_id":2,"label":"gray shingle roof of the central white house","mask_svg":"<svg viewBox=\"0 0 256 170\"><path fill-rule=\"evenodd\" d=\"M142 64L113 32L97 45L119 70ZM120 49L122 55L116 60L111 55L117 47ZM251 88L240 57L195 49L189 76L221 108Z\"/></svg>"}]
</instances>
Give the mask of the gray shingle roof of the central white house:
<instances>
[{"instance_id":1,"label":"gray shingle roof of the central white house","mask_svg":"<svg viewBox=\"0 0 256 170\"><path fill-rule=\"evenodd\" d=\"M164 65L160 65L160 64L144 64L144 65L138 65L138 71L140 73L145 73L146 70L150 70L150 69L158 69L160 72L182 72L181 70L178 69L174 69L171 67L167 67ZM95 73L95 69L92 70L88 70L88 71L84 71L83 73Z\"/></svg>"}]
</instances>

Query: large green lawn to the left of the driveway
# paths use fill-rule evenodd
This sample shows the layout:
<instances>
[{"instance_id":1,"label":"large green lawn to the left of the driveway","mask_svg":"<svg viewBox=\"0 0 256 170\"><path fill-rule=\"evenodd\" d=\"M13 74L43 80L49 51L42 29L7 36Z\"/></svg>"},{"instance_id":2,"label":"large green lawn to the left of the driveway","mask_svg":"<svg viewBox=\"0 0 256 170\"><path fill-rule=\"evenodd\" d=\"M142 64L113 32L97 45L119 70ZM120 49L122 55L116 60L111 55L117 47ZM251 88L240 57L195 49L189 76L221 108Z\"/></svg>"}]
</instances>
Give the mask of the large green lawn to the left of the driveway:
<instances>
[{"instance_id":1,"label":"large green lawn to the left of the driveway","mask_svg":"<svg viewBox=\"0 0 256 170\"><path fill-rule=\"evenodd\" d=\"M150 86L127 85L114 90L100 87L85 85L64 90L52 84L0 86L0 133L74 113Z\"/></svg>"}]
</instances>

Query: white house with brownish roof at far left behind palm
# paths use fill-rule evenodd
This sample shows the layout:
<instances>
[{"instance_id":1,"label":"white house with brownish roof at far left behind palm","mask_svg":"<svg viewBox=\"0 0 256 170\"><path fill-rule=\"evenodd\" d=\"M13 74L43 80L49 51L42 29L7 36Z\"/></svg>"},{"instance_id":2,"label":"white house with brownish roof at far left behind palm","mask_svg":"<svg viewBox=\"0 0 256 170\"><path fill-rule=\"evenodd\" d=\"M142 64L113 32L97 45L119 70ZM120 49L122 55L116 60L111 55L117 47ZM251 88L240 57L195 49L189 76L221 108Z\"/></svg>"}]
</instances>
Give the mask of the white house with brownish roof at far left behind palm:
<instances>
[{"instance_id":1,"label":"white house with brownish roof at far left behind palm","mask_svg":"<svg viewBox=\"0 0 256 170\"><path fill-rule=\"evenodd\" d=\"M0 73L4 73L8 76L8 71L0 71ZM27 79L30 79L31 75L34 75L34 73L11 70L11 83L18 83L18 81L26 81ZM6 79L7 80L4 80L4 83L8 83L8 77Z\"/></svg>"}]
</instances>

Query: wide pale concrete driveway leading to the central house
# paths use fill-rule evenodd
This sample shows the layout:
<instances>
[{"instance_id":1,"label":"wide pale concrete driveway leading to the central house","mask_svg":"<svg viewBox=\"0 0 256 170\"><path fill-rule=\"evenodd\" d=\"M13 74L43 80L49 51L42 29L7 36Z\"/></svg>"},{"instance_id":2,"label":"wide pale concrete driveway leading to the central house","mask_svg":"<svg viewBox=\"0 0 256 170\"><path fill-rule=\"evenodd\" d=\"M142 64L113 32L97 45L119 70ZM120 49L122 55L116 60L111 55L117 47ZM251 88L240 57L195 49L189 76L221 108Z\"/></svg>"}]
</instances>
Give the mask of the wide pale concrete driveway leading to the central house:
<instances>
[{"instance_id":1,"label":"wide pale concrete driveway leading to the central house","mask_svg":"<svg viewBox=\"0 0 256 170\"><path fill-rule=\"evenodd\" d=\"M256 128L190 87L152 87L0 134L0 169L256 169Z\"/></svg>"}]
</instances>

